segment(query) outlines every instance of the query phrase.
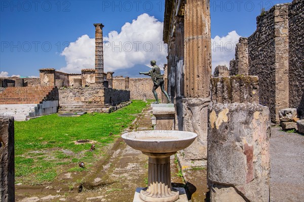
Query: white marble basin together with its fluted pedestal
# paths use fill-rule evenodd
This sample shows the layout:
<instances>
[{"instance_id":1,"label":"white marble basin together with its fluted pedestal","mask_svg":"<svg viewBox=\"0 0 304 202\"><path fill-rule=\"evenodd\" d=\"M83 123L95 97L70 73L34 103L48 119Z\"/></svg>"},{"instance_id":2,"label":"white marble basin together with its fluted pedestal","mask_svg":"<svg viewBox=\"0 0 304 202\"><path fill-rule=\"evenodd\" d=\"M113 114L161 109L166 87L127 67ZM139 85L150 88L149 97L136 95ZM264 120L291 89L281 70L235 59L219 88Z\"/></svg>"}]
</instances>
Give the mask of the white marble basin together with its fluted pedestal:
<instances>
[{"instance_id":1,"label":"white marble basin together with its fluted pedestal","mask_svg":"<svg viewBox=\"0 0 304 202\"><path fill-rule=\"evenodd\" d=\"M147 202L172 202L179 192L171 185L170 156L188 147L198 135L174 130L148 130L125 133L122 138L148 158L148 187L139 197Z\"/></svg>"}]
</instances>

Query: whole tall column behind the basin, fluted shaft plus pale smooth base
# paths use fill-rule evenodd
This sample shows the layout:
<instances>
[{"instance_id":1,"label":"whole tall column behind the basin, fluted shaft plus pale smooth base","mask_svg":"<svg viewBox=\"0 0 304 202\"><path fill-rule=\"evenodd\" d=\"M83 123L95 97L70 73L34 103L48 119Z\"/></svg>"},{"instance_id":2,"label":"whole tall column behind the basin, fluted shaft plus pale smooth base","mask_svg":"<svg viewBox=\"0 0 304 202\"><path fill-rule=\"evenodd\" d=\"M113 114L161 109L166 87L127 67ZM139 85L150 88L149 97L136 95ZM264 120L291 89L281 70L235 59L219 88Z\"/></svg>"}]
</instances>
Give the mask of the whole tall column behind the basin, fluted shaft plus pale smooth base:
<instances>
[{"instance_id":1,"label":"whole tall column behind the basin, fluted shaft plus pale smooth base","mask_svg":"<svg viewBox=\"0 0 304 202\"><path fill-rule=\"evenodd\" d=\"M210 2L187 0L184 16L184 98L177 104L178 129L198 134L184 149L184 160L206 161L208 105L210 103ZM182 127L181 127L182 126Z\"/></svg>"}]
</instances>

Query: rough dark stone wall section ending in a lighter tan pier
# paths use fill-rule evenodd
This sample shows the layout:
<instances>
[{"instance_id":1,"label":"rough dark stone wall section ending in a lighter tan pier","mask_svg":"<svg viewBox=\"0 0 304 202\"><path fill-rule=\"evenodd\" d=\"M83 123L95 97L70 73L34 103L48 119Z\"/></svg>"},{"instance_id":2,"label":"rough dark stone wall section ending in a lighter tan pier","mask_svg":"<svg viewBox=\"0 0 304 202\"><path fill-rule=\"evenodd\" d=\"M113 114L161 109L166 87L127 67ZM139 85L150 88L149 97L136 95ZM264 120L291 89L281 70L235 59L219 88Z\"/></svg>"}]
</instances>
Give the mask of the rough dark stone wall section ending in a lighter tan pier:
<instances>
[{"instance_id":1,"label":"rough dark stone wall section ending in a lighter tan pier","mask_svg":"<svg viewBox=\"0 0 304 202\"><path fill-rule=\"evenodd\" d=\"M249 75L259 78L260 104L279 120L288 107L288 4L276 5L257 17L257 29L248 38Z\"/></svg>"}]
</instances>

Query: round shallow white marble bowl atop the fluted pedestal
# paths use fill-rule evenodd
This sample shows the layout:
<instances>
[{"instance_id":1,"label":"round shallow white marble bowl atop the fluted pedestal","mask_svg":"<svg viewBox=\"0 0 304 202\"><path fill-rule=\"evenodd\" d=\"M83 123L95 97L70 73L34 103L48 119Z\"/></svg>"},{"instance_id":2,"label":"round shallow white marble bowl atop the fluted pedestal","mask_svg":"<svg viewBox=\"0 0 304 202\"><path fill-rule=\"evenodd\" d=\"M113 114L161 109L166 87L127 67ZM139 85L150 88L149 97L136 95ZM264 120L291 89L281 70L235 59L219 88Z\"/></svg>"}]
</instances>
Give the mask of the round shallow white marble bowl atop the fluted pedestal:
<instances>
[{"instance_id":1,"label":"round shallow white marble bowl atop the fluted pedestal","mask_svg":"<svg viewBox=\"0 0 304 202\"><path fill-rule=\"evenodd\" d=\"M122 138L144 153L172 153L188 147L198 135L174 130L148 130L125 133Z\"/></svg>"}]
</instances>

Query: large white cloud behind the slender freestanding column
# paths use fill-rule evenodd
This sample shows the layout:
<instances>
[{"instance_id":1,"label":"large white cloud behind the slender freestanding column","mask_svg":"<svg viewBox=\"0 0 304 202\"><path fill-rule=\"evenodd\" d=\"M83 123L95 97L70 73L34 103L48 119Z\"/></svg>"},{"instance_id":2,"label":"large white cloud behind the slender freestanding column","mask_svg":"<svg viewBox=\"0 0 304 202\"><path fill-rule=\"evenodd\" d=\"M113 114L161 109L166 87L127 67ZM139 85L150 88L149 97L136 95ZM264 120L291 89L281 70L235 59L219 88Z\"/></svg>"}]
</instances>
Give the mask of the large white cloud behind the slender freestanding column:
<instances>
[{"instance_id":1,"label":"large white cloud behind the slender freestanding column","mask_svg":"<svg viewBox=\"0 0 304 202\"><path fill-rule=\"evenodd\" d=\"M149 65L156 60L160 67L167 63L163 42L163 23L148 14L127 22L120 32L111 31L103 37L104 71L131 68L136 64ZM83 35L70 43L61 53L65 57L63 72L80 72L95 67L95 39Z\"/></svg>"}]
</instances>

